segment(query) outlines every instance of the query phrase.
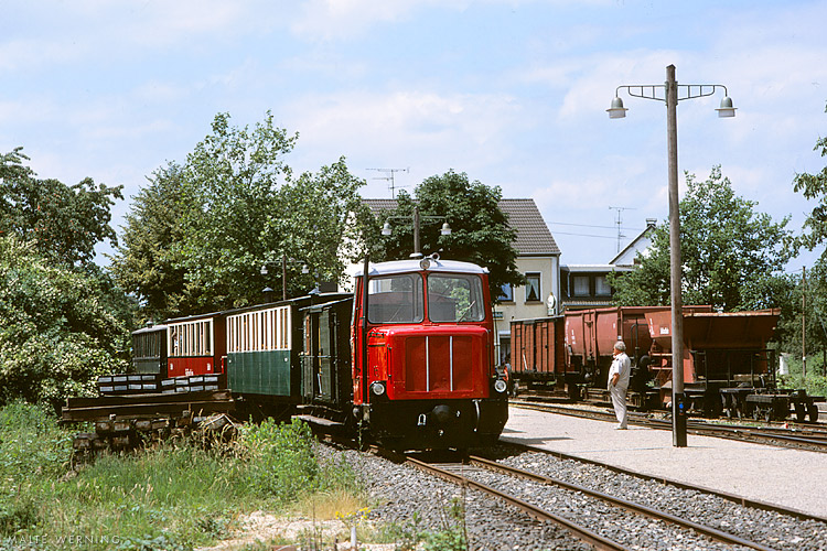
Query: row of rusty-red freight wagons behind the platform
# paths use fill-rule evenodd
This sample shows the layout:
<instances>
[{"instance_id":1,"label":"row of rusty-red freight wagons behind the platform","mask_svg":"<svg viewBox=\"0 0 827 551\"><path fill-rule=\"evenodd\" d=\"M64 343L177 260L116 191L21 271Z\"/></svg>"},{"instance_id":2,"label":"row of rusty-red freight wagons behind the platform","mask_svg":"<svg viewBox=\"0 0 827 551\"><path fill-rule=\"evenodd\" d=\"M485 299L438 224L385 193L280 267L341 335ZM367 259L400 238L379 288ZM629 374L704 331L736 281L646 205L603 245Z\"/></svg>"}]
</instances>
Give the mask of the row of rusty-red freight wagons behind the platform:
<instances>
[{"instance_id":1,"label":"row of rusty-red freight wagons behind the platform","mask_svg":"<svg viewBox=\"0 0 827 551\"><path fill-rule=\"evenodd\" d=\"M815 421L823 397L778 389L767 348L778 310L720 313L684 306L684 391L690 412L781 420L791 412ZM632 359L629 400L669 408L672 311L622 306L568 311L555 318L512 322L512 377L517 388L545 387L569 398L604 399L612 348L626 343Z\"/></svg>"}]
</instances>

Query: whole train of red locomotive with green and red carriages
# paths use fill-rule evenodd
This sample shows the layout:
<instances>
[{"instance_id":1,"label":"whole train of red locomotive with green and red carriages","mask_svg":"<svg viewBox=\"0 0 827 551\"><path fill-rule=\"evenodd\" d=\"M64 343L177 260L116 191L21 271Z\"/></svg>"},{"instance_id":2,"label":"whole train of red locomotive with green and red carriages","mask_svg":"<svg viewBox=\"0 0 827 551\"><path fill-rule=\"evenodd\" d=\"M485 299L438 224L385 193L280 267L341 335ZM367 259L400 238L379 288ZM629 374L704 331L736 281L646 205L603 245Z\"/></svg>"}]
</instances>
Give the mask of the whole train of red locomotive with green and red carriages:
<instances>
[{"instance_id":1,"label":"whole train of red locomotive with green and red carriages","mask_svg":"<svg viewBox=\"0 0 827 551\"><path fill-rule=\"evenodd\" d=\"M161 402L164 411L186 407L191 397L210 412L198 392L226 390L239 417L298 413L362 443L421 450L496 441L508 409L494 367L487 270L433 256L369 264L354 287L353 294L311 294L136 331L136 371L155 377L159 391L123 399L140 401L141 415ZM73 400L66 420L111 415ZM222 398L217 410L226 407ZM129 411L138 410L118 414Z\"/></svg>"}]
</instances>

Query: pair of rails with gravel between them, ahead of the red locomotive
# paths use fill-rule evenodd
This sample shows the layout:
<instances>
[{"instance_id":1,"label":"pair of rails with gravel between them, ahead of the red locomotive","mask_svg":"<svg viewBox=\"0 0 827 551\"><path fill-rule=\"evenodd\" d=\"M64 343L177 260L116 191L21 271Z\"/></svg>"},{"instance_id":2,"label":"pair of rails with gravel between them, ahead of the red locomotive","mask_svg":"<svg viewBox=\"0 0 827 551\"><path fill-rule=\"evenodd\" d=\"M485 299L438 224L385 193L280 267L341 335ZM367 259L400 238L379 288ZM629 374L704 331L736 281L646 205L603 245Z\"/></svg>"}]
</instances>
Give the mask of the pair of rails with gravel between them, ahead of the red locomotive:
<instances>
[{"instance_id":1,"label":"pair of rails with gravel between them, ahead of the red locomotive","mask_svg":"<svg viewBox=\"0 0 827 551\"><path fill-rule=\"evenodd\" d=\"M672 542L667 545L670 549L675 549L676 542L688 549L773 549L641 504L483 457L471 456L470 464L432 464L412 457L407 461L502 499L539 520L555 522L595 549L658 549L665 541ZM508 493L500 489L503 487Z\"/></svg>"}]
</instances>

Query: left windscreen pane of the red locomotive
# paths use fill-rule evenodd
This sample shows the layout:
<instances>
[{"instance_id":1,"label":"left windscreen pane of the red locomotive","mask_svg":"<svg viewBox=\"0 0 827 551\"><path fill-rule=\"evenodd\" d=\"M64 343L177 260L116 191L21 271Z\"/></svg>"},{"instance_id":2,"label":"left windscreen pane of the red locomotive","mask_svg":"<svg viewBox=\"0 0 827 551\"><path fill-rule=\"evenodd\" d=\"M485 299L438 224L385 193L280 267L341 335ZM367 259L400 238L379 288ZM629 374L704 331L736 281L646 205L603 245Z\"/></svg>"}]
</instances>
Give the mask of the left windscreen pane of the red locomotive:
<instances>
[{"instance_id":1,"label":"left windscreen pane of the red locomotive","mask_svg":"<svg viewBox=\"0 0 827 551\"><path fill-rule=\"evenodd\" d=\"M373 278L367 292L367 320L370 323L419 323L425 317L422 277L419 273Z\"/></svg>"}]
</instances>

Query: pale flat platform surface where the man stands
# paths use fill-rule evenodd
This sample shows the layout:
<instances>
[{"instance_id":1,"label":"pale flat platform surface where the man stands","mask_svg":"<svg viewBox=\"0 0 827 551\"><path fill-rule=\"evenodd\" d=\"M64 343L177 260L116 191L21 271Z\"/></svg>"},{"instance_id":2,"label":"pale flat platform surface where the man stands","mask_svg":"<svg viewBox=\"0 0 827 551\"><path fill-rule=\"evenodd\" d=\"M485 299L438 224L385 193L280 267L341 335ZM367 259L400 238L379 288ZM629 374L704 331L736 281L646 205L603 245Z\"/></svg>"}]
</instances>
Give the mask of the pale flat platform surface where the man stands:
<instances>
[{"instance_id":1,"label":"pale flat platform surface where the man stands","mask_svg":"<svg viewBox=\"0 0 827 551\"><path fill-rule=\"evenodd\" d=\"M827 454L688 435L674 447L672 434L511 408L503 440L685 484L742 496L824 518ZM825 525L827 526L827 525ZM827 531L823 534L827 541Z\"/></svg>"}]
</instances>

